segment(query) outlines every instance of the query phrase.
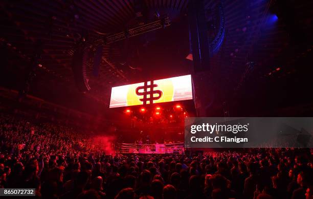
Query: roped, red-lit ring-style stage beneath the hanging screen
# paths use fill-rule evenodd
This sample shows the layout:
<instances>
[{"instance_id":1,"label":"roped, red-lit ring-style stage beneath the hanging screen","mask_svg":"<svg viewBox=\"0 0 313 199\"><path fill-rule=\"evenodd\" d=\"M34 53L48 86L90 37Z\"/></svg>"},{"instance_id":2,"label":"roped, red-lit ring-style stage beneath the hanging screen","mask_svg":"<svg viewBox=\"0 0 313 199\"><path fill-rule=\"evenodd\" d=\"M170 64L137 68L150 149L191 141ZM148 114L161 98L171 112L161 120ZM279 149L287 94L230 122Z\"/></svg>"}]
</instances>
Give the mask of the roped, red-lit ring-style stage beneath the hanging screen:
<instances>
[{"instance_id":1,"label":"roped, red-lit ring-style stage beneath the hanging screen","mask_svg":"<svg viewBox=\"0 0 313 199\"><path fill-rule=\"evenodd\" d=\"M129 144L118 143L117 150L120 153L141 153L141 154L184 154L184 143L171 144Z\"/></svg>"}]
</instances>

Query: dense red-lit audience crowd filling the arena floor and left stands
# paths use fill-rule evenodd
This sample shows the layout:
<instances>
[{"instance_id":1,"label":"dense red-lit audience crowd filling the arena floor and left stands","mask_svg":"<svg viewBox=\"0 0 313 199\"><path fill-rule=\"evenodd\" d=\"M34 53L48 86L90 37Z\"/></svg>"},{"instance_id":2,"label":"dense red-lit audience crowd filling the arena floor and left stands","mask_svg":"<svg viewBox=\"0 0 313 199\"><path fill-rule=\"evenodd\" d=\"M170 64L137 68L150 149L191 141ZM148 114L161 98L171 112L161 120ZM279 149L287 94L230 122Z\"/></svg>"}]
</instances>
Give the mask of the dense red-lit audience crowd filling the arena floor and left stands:
<instances>
[{"instance_id":1,"label":"dense red-lit audience crowd filling the arena floor and left stands","mask_svg":"<svg viewBox=\"0 0 313 199\"><path fill-rule=\"evenodd\" d=\"M310 149L107 154L73 128L0 116L0 188L37 198L313 198Z\"/></svg>"}]
</instances>

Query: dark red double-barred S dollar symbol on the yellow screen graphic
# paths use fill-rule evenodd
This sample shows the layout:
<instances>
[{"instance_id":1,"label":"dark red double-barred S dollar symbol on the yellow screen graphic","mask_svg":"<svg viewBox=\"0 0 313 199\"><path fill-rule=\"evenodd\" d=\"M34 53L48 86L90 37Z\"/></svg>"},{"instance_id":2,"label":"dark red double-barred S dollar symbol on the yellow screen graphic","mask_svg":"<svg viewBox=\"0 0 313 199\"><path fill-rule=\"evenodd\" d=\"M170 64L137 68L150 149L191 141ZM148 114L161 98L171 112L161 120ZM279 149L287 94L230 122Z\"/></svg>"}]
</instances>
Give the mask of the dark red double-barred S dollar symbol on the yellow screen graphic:
<instances>
[{"instance_id":1,"label":"dark red double-barred S dollar symbol on the yellow screen graphic","mask_svg":"<svg viewBox=\"0 0 313 199\"><path fill-rule=\"evenodd\" d=\"M147 104L149 102L150 104L153 103L153 100L158 100L162 97L162 91L160 90L153 90L154 87L158 87L158 84L154 84L153 81L150 81L150 85L148 85L148 82L145 82L143 86L138 86L136 89L136 94L138 96L143 96L142 99L139 99L143 102L143 104ZM143 90L142 92L139 92L139 90ZM149 91L148 91L149 90ZM157 97L155 97L153 94L158 94ZM149 97L148 97L149 95Z\"/></svg>"}]
</instances>

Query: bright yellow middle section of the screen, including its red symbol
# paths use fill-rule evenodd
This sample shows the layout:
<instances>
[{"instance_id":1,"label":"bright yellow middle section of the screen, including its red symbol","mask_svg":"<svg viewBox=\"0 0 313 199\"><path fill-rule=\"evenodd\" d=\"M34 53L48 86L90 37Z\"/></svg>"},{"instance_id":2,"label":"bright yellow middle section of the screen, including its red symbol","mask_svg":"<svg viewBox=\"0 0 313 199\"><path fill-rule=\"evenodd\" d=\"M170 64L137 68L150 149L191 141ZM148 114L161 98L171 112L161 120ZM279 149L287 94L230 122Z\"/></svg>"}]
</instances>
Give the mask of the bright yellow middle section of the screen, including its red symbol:
<instances>
[{"instance_id":1,"label":"bright yellow middle section of the screen, including its red symbol","mask_svg":"<svg viewBox=\"0 0 313 199\"><path fill-rule=\"evenodd\" d=\"M173 101L174 87L170 79L131 84L127 106Z\"/></svg>"}]
</instances>

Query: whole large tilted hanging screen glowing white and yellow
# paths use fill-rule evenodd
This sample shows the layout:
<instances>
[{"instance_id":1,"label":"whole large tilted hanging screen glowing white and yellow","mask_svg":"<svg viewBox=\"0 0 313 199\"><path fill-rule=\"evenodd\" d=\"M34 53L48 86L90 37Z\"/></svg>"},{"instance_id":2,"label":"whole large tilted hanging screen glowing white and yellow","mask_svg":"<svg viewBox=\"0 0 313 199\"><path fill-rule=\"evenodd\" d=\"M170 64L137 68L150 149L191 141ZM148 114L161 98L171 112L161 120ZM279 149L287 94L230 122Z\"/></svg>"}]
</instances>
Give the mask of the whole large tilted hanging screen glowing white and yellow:
<instances>
[{"instance_id":1,"label":"whole large tilted hanging screen glowing white and yellow","mask_svg":"<svg viewBox=\"0 0 313 199\"><path fill-rule=\"evenodd\" d=\"M113 87L110 108L192 99L191 75Z\"/></svg>"}]
</instances>

